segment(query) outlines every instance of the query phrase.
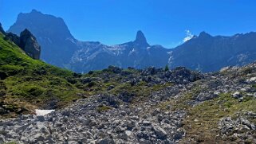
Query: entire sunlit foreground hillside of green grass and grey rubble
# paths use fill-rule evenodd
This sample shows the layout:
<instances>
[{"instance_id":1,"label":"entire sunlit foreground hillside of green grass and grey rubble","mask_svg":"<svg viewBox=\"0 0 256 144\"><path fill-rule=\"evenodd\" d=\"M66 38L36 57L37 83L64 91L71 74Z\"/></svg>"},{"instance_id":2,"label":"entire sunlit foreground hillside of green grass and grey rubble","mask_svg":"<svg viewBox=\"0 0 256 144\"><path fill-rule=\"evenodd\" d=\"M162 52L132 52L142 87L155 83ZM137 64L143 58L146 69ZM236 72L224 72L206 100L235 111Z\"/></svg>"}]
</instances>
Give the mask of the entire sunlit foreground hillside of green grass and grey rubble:
<instances>
[{"instance_id":1,"label":"entire sunlit foreground hillside of green grass and grey rubble","mask_svg":"<svg viewBox=\"0 0 256 144\"><path fill-rule=\"evenodd\" d=\"M200 73L113 66L76 74L0 37L0 142L255 143L256 63ZM35 108L57 109L49 115Z\"/></svg>"}]
</instances>

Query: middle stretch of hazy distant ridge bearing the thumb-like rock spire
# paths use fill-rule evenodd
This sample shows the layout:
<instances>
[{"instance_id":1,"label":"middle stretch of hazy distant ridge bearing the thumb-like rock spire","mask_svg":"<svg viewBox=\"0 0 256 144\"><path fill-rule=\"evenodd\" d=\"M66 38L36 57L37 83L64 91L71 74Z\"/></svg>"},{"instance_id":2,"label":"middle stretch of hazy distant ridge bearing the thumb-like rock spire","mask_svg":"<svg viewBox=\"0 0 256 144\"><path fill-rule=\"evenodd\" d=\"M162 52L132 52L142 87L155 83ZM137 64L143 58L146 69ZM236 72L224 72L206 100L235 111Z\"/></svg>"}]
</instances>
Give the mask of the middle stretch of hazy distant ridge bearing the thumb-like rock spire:
<instances>
[{"instance_id":1,"label":"middle stretch of hazy distant ridge bearing the thumb-like rock spire","mask_svg":"<svg viewBox=\"0 0 256 144\"><path fill-rule=\"evenodd\" d=\"M82 42L81 49L74 53L70 65L75 72L108 68L108 65L121 68L163 67L167 64L167 52L168 49L160 45L149 45L144 33L138 31L135 41L121 45Z\"/></svg>"}]
</instances>

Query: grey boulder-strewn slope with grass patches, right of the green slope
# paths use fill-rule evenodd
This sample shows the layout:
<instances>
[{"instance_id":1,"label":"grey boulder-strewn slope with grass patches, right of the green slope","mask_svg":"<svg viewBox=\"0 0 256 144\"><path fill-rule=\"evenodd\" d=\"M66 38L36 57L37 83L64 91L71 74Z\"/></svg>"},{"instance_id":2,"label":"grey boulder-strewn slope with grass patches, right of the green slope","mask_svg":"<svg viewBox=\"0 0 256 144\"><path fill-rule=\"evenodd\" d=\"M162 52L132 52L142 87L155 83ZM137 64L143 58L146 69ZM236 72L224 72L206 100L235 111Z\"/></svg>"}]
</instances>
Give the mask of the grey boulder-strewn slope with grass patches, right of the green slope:
<instances>
[{"instance_id":1,"label":"grey boulder-strewn slope with grass patches, right of the green slope","mask_svg":"<svg viewBox=\"0 0 256 144\"><path fill-rule=\"evenodd\" d=\"M49 115L2 119L1 142L256 142L256 63L207 74L109 67L81 81L99 93Z\"/></svg>"}]
</instances>

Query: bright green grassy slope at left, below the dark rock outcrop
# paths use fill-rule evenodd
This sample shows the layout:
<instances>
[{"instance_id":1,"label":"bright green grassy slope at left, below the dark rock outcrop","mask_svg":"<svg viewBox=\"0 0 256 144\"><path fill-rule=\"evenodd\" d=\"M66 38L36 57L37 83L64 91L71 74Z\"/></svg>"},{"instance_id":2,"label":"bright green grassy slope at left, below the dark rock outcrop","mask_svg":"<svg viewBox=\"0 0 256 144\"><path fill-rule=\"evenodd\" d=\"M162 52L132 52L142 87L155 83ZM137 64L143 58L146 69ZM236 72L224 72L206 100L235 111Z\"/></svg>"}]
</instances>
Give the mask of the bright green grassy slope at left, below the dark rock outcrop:
<instances>
[{"instance_id":1,"label":"bright green grassy slope at left, below the dark rock outcrop","mask_svg":"<svg viewBox=\"0 0 256 144\"><path fill-rule=\"evenodd\" d=\"M68 81L76 76L33 60L0 33L0 107L8 115L31 113L37 107L63 107L79 99L82 91Z\"/></svg>"}]
</instances>

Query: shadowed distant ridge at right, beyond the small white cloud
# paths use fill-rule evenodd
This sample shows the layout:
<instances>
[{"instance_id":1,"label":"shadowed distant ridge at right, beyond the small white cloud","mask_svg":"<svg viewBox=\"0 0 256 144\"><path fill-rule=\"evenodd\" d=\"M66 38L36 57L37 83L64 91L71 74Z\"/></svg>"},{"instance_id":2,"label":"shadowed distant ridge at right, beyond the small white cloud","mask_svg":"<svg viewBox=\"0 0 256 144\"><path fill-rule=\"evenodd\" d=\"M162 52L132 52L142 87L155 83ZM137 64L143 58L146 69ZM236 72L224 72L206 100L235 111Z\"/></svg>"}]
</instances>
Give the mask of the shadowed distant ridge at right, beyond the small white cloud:
<instances>
[{"instance_id":1,"label":"shadowed distant ridge at right, beyond the small white cloud","mask_svg":"<svg viewBox=\"0 0 256 144\"><path fill-rule=\"evenodd\" d=\"M256 33L235 34L231 37L211 36L202 32L198 37L179 45L171 53L171 68L185 66L202 72L249 64L256 59Z\"/></svg>"}]
</instances>

